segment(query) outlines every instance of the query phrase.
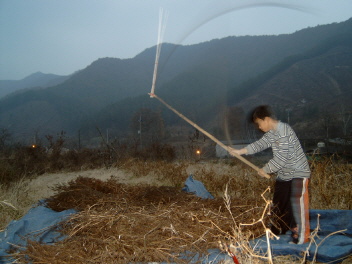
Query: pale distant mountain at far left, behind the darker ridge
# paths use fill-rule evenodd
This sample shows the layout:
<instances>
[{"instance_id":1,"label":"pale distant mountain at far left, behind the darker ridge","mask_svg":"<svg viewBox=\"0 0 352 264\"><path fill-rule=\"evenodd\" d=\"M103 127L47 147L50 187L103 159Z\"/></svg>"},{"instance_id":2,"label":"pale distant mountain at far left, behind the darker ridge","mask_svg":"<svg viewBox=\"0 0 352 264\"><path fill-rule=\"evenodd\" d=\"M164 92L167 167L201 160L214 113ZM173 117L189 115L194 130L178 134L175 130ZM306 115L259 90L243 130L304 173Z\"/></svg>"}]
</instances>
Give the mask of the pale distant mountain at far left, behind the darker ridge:
<instances>
[{"instance_id":1,"label":"pale distant mountain at far left, behind the darker ridge","mask_svg":"<svg viewBox=\"0 0 352 264\"><path fill-rule=\"evenodd\" d=\"M50 86L55 86L64 82L68 78L69 76L36 72L18 81L0 80L0 98L22 89L47 88Z\"/></svg>"}]
</instances>

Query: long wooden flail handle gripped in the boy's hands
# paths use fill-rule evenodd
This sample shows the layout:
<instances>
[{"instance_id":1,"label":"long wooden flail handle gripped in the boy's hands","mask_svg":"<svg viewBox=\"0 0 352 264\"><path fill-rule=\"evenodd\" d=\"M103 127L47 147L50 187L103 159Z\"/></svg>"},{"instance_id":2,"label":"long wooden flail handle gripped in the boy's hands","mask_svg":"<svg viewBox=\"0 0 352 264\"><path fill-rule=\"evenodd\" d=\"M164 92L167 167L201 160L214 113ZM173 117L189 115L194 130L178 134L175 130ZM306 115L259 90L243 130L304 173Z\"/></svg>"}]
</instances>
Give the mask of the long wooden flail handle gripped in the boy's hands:
<instances>
[{"instance_id":1,"label":"long wooden flail handle gripped in the boy's hands","mask_svg":"<svg viewBox=\"0 0 352 264\"><path fill-rule=\"evenodd\" d=\"M205 131L203 128L201 128L200 126L198 126L196 123L194 123L193 121L189 120L187 117L185 117L183 114L181 114L180 112L178 112L176 109L174 109L172 106L170 106L169 104L167 104L163 99L161 99L160 97L158 97L156 94L154 93L149 93L150 97L154 97L156 99L158 99L162 104L164 104L167 108L169 108L171 111L173 111L175 114L177 114L179 117L181 117L183 120L185 120L187 123L189 123L190 125L192 125L193 127L195 127L196 129L198 129L199 131L201 131L204 135L206 135L208 138L210 138L211 140L213 140L215 143L217 143L218 145L220 145L223 149L225 149L226 151L228 150L228 147L222 143L220 140L218 140L216 137L214 137L213 135L211 135L210 133L208 133L207 131ZM243 158L241 155L235 154L234 155L237 159L239 159L240 161L244 162L245 164L247 164L248 166L250 166L251 168L253 168L254 170L256 170L257 172L259 172L260 168L258 168L256 165L254 165L253 163L249 162L248 160L246 160L245 158ZM265 178L270 179L270 176L268 174L265 174Z\"/></svg>"}]
</instances>

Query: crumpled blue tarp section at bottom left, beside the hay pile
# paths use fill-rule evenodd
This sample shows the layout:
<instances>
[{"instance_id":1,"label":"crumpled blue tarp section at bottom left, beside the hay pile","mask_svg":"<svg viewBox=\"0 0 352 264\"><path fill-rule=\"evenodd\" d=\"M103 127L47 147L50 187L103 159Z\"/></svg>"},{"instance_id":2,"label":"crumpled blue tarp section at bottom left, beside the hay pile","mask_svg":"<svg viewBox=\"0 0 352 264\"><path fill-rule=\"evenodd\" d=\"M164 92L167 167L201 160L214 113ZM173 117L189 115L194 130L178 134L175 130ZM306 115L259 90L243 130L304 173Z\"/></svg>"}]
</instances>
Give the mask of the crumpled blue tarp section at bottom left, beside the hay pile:
<instances>
[{"instance_id":1,"label":"crumpled blue tarp section at bottom left, beside the hay pile","mask_svg":"<svg viewBox=\"0 0 352 264\"><path fill-rule=\"evenodd\" d=\"M44 244L55 243L64 237L56 231L57 224L76 211L55 212L43 204L32 207L20 220L13 220L0 233L0 264L9 263L7 251L13 246L26 246L26 239Z\"/></svg>"}]
</instances>

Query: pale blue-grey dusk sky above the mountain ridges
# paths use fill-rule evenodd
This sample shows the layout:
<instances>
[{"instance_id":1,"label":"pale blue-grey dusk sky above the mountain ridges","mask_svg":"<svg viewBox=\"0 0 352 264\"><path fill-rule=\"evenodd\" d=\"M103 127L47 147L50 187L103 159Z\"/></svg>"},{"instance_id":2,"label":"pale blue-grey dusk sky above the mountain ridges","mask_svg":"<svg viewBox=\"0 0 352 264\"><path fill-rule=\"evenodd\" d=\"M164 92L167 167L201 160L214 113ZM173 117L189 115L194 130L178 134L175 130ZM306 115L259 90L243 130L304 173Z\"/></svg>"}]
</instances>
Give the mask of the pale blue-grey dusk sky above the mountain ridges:
<instances>
[{"instance_id":1,"label":"pale blue-grey dusk sky above the mountain ridges","mask_svg":"<svg viewBox=\"0 0 352 264\"><path fill-rule=\"evenodd\" d=\"M163 42L290 34L352 17L351 0L0 0L0 80L68 75L104 58L132 58ZM162 53L162 51L161 51Z\"/></svg>"}]
</instances>

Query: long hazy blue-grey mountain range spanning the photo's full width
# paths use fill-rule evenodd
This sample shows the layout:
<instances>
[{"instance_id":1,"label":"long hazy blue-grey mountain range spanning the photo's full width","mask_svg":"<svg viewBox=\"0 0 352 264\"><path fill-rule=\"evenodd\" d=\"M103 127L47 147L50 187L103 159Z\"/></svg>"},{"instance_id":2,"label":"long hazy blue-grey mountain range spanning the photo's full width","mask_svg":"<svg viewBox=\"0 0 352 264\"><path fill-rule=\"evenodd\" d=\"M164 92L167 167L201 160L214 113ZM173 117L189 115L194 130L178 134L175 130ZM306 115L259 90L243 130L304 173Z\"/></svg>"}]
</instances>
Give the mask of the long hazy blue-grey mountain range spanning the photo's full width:
<instances>
[{"instance_id":1,"label":"long hazy blue-grey mountain range spanning the photo's full width","mask_svg":"<svg viewBox=\"0 0 352 264\"><path fill-rule=\"evenodd\" d=\"M267 103L279 118L289 113L299 133L318 137L324 130L308 124L324 117L325 105L334 112L351 105L351 32L349 19L279 36L164 44L156 94L211 131L219 130L229 107L245 113ZM62 130L89 139L96 128L123 137L142 108L161 112L167 126L187 125L148 96L155 48L132 59L101 58L57 85L7 95L0 99L0 128L27 142Z\"/></svg>"}]
</instances>

